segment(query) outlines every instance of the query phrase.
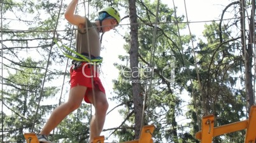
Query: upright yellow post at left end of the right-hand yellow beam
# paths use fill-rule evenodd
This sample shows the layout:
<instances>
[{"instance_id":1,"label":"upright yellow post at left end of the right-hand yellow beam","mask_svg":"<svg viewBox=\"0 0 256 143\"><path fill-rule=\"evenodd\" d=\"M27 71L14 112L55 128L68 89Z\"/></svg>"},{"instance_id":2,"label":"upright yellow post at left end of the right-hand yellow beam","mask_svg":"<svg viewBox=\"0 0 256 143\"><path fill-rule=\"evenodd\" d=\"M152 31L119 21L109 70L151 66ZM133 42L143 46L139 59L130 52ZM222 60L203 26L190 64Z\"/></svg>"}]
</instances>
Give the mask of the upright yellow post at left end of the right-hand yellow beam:
<instances>
[{"instance_id":1,"label":"upright yellow post at left end of the right-hand yellow beam","mask_svg":"<svg viewBox=\"0 0 256 143\"><path fill-rule=\"evenodd\" d=\"M213 139L214 115L204 116L202 120L202 143L211 143Z\"/></svg>"}]
</instances>

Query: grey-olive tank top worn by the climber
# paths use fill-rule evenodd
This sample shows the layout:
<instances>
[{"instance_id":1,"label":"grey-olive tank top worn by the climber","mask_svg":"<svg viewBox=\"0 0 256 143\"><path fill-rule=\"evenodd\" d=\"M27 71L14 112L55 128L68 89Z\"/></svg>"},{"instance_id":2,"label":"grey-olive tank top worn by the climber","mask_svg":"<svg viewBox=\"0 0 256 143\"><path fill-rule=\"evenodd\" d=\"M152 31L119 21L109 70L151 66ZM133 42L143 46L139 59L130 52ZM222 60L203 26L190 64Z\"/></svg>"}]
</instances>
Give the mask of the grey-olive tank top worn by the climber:
<instances>
[{"instance_id":1,"label":"grey-olive tank top worn by the climber","mask_svg":"<svg viewBox=\"0 0 256 143\"><path fill-rule=\"evenodd\" d=\"M88 18L86 18L86 21L87 28L85 23L83 25L84 28L78 28L78 30L76 30L76 52L89 54L90 50L91 56L100 56L101 42L99 30L97 29L96 23L90 22ZM87 38L87 35L89 35L89 38Z\"/></svg>"}]
</instances>

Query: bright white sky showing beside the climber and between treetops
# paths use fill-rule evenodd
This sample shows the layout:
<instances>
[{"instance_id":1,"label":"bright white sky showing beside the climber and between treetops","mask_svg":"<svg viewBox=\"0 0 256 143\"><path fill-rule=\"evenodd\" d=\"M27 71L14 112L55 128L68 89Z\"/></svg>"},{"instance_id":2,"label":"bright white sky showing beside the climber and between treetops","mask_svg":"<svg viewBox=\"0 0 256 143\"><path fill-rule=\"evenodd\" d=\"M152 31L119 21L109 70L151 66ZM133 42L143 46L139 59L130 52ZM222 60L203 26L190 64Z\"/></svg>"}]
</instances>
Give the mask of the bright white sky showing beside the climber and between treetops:
<instances>
[{"instance_id":1,"label":"bright white sky showing beside the climber and between treetops","mask_svg":"<svg viewBox=\"0 0 256 143\"><path fill-rule=\"evenodd\" d=\"M173 1L164 0L160 1L162 3L168 4L170 8L173 8ZM196 34L197 37L202 35L204 30L204 21L219 20L222 13L222 9L230 3L228 0L186 0L187 6L187 16L189 22L199 22L199 23L190 23L190 30L192 34ZM182 0L174 0L174 4L177 7L177 15L186 15L185 13L185 3ZM121 13L121 15L124 15ZM62 16L61 18L64 18ZM121 35L124 35L125 32L129 33L127 29L127 24L129 20L124 20L119 27L117 27L118 32ZM59 30L63 30L62 27L58 27ZM186 34L186 31L185 31ZM187 34L189 34L187 30ZM114 32L113 30L104 34L103 51L101 52L103 56L103 64L101 66L103 74L101 74L101 80L106 89L106 95L108 98L111 98L113 94L113 83L112 80L118 77L118 70L113 66L113 63L118 61L118 55L127 55L123 49L125 43L123 37ZM62 82L62 79L60 79ZM68 86L64 89L69 89ZM66 96L67 97L67 96ZM55 97L56 100L59 100L59 96ZM110 103L109 110L117 105L117 103L112 102L108 99ZM182 120L182 118L180 118ZM111 112L110 115L106 116L106 123L104 129L115 128L120 125L123 121L122 117L118 114L117 111ZM105 137L109 136L108 132L103 132L102 135ZM107 141L112 141L115 137L110 137Z\"/></svg>"}]
</instances>

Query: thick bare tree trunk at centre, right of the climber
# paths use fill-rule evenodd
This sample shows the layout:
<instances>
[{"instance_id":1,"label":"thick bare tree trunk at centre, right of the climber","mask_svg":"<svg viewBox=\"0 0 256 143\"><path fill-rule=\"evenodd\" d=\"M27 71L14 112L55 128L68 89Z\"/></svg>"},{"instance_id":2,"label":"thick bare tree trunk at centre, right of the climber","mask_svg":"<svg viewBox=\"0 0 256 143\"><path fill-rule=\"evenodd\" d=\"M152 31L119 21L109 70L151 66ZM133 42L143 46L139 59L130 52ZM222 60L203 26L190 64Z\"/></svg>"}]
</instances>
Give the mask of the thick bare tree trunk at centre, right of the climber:
<instances>
[{"instance_id":1,"label":"thick bare tree trunk at centre, right of the climber","mask_svg":"<svg viewBox=\"0 0 256 143\"><path fill-rule=\"evenodd\" d=\"M134 103L134 115L135 115L135 138L139 139L141 118L143 111L143 97L141 96L141 85L139 83L139 57L138 57L138 22L136 14L136 0L129 0L129 16L131 23L131 49L130 54L130 66L131 66L131 81L132 81L132 100Z\"/></svg>"}]
</instances>

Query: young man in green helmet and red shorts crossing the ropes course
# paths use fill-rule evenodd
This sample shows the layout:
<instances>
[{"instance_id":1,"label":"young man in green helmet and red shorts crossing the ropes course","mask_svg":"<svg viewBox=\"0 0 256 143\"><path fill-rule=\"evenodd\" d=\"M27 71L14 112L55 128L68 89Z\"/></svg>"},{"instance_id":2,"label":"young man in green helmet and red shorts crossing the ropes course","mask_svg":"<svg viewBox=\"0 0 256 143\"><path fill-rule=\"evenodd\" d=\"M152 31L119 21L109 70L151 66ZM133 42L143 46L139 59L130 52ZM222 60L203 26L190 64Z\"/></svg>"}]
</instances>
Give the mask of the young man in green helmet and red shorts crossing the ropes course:
<instances>
[{"instance_id":1,"label":"young man in green helmet and red shorts crossing the ropes course","mask_svg":"<svg viewBox=\"0 0 256 143\"><path fill-rule=\"evenodd\" d=\"M120 23L120 15L115 8L109 6L99 11L99 17L95 22L90 22L88 18L74 14L76 4L78 4L78 0L72 0L65 13L66 20L78 27L78 32L76 32L76 52L87 58L100 58L101 41L99 32L104 33L115 28ZM54 109L45 126L38 134L39 142L50 142L47 139L47 135L69 113L79 108L83 99L85 102L93 104L96 111L90 122L90 142L94 137L99 136L103 130L108 101L101 80L97 76L99 75L97 64L73 61L70 71L71 89L69 99L66 103ZM90 76L91 74L94 75L93 78Z\"/></svg>"}]
</instances>

